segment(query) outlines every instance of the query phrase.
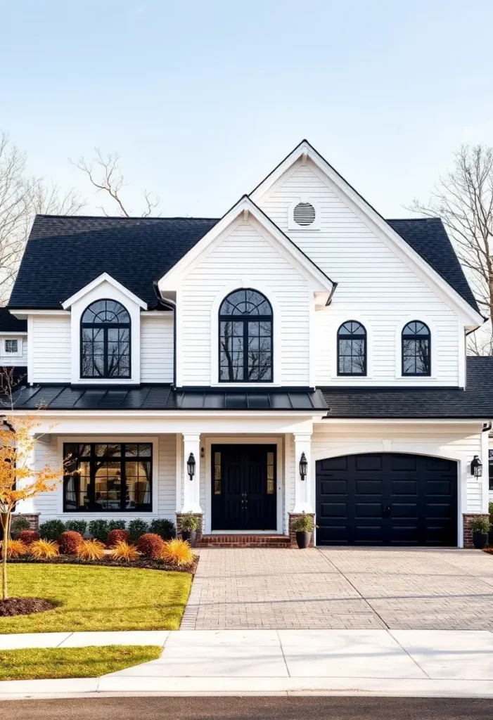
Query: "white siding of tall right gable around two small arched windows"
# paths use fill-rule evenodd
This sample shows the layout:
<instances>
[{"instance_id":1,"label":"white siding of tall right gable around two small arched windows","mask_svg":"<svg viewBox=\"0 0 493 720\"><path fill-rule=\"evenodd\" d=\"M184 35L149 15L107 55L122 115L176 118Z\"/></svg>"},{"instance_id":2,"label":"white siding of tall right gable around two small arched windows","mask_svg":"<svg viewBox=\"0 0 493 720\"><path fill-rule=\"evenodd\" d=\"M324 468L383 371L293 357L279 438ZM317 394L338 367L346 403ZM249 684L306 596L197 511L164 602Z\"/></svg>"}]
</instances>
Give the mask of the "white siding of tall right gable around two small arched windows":
<instances>
[{"instance_id":1,"label":"white siding of tall right gable around two small arched windows","mask_svg":"<svg viewBox=\"0 0 493 720\"><path fill-rule=\"evenodd\" d=\"M315 313L317 384L458 384L457 315L358 215L322 181L315 166L297 164L263 197L260 206L299 248L338 282L330 307ZM338 191L340 192L340 191ZM320 230L289 230L289 207L300 196L320 211ZM363 316L372 342L373 376L337 377L336 333L340 323ZM400 377L396 330L402 318L425 316L433 324L432 376ZM400 365L400 363L399 363Z\"/></svg>"}]
</instances>

